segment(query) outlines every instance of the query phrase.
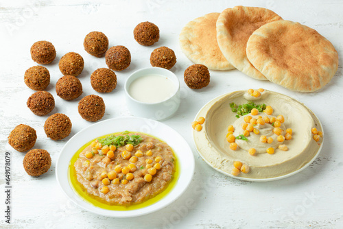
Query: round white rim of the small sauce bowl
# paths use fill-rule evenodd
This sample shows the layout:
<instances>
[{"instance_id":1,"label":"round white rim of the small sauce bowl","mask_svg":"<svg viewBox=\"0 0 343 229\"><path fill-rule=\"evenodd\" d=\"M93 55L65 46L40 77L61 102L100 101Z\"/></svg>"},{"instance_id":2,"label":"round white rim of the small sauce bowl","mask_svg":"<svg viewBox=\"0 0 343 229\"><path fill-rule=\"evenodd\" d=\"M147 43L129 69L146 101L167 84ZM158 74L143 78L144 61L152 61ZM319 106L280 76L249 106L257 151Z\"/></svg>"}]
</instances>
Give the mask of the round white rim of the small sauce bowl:
<instances>
[{"instance_id":1,"label":"round white rim of the small sauce bowl","mask_svg":"<svg viewBox=\"0 0 343 229\"><path fill-rule=\"evenodd\" d=\"M144 101L139 101L137 99L134 99L134 97L132 97L130 95L130 93L128 92L128 87L132 84L132 82L134 82L134 80L132 82L130 82L130 84L128 83L130 81L130 79L132 77L134 77L134 75L137 75L138 73L141 73L142 71L152 71L152 74L156 74L156 75L163 75L163 76L167 76L168 78L174 77L174 80L171 80L173 82L173 84L176 86L176 90L173 93L173 95L167 97L167 99L164 99L162 101L158 101L155 103L147 103ZM154 71L157 71L157 73L154 73ZM164 75L161 74L161 72L167 73L169 75ZM143 75L141 75L140 77L142 77ZM138 77L137 77L138 78ZM137 79L135 79L137 80ZM132 99L133 101L137 102L138 104L145 104L145 105L155 105L155 104L163 104L165 101L168 101L169 99L172 99L174 96L176 96L178 94L178 91L180 91L180 81L178 80L178 77L175 75L175 73L173 73L172 71L168 70L168 69L163 69L161 67L146 67L143 69L139 69L137 71L134 71L133 73L131 73L128 78L126 79L126 82L124 84L124 91L126 93L126 95Z\"/></svg>"}]
</instances>

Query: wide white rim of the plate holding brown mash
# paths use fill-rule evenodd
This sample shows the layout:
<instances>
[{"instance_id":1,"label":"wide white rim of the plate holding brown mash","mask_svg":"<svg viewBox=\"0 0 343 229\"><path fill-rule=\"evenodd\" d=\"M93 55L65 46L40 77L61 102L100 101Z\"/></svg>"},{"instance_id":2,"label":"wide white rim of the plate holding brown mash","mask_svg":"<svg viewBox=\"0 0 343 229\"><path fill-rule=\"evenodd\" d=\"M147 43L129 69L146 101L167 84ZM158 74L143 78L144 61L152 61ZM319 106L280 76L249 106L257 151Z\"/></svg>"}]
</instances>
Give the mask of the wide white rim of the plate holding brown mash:
<instances>
[{"instance_id":1,"label":"wide white rim of the plate holding brown mash","mask_svg":"<svg viewBox=\"0 0 343 229\"><path fill-rule=\"evenodd\" d=\"M82 199L82 197L80 197L80 195L78 195L78 193L75 193L75 191L73 190L73 188L71 187L70 183L69 183L69 178L68 176L66 177L62 177L65 172L68 170L66 168L66 171L60 171L61 165L64 166L64 164L62 164L62 160L63 158L67 158L64 160L67 160L67 165L69 166L69 162L71 160L71 158L73 157L73 155L75 154L71 154L71 155L65 155L67 154L67 147L69 147L70 144L73 143L73 141L75 141L75 139L77 139L81 134L84 134L84 132L92 130L93 128L96 128L99 125L104 125L105 123L111 123L111 122L116 122L116 121L139 121L139 122L143 122L143 123L149 123L149 122L154 122L156 123L156 127L155 128L167 128L169 129L169 134L172 134L174 136L176 136L176 138L178 138L178 141L183 141L182 145L186 147L185 152L182 152L182 156L184 154L187 154L187 169L183 168L182 170L182 163L185 163L185 161L182 162L181 160L181 155L180 153L178 154L176 152L176 150L174 149L174 147L172 147L172 149L174 150L174 153L178 156L178 162L180 163L180 175L178 177L178 180L180 180L180 178L183 178L186 182L184 184L181 184L181 182L176 182L176 186L174 186L173 189L171 189L171 192L168 193L165 197L163 197L163 199L158 200L158 202L155 202L153 204L150 204L149 206L145 206L143 208L138 208L138 209L134 209L134 210L108 210L108 209L104 209L104 208L99 208L97 206L94 206L91 203L88 203L86 201L84 201ZM135 130L130 130L130 131L135 131ZM114 130L112 133L115 133L116 131ZM120 132L120 131L119 131ZM137 132L141 132L138 131ZM154 134L154 128L151 128L151 132L152 133L147 133L147 134L151 134L152 136L156 136L156 134ZM174 132L174 133L172 133ZM108 134L108 133L104 133L104 134ZM102 134L102 135L104 135ZM99 135L99 136L102 136ZM96 138L97 136L95 136ZM157 138L160 138L160 136L156 136ZM167 142L165 139L160 138L162 141ZM86 143L86 141L84 141ZM80 147L82 147L82 145L80 145L78 147L78 149L80 149ZM75 151L76 152L76 151ZM189 160L191 159L191 160ZM185 165L184 165L185 166ZM71 202L73 202L74 204L76 204L77 206L79 206L80 208L87 210L91 213L95 213L97 215L104 215L104 216L108 216L108 217L118 217L118 218L126 218L126 217L138 217L141 215L146 215L149 213L153 213L156 210L161 210L162 208L165 208L166 206L168 206L169 204L171 204L172 202L174 202L175 200L177 200L183 193L185 193L185 191L188 189L189 184L191 183L191 180L193 179L193 175L194 175L194 170L195 170L195 158L194 158L194 154L193 151L191 149L191 147L189 146L189 144L187 143L187 141L185 140L185 138L183 138L183 136L181 136L176 130L174 130L174 128L169 127L169 125L166 125L165 123L161 123L159 121L155 121L152 119L145 119L145 118L141 118L141 117L117 117L117 118L113 118L113 119L106 119L104 121L99 121L97 123L93 123L92 125L88 125L86 128L83 128L82 130L80 130L79 132L77 132L76 134L74 134L69 141L67 141L67 143L64 144L64 147L61 149L60 154L58 156L57 162L56 162L56 180L58 182L58 186L60 186L60 189L62 189L64 195L66 195L68 197L68 200L71 200ZM64 174L63 174L64 173ZM67 187L65 186L65 182L67 181ZM73 193L73 195L70 195L70 193ZM171 199L169 200L168 196L174 194L174 196L171 196ZM80 202L82 202L82 204L80 204ZM86 204L84 204L86 203ZM160 203L160 204L158 204ZM162 203L162 204L161 204ZM86 207L88 206L88 207Z\"/></svg>"}]
</instances>

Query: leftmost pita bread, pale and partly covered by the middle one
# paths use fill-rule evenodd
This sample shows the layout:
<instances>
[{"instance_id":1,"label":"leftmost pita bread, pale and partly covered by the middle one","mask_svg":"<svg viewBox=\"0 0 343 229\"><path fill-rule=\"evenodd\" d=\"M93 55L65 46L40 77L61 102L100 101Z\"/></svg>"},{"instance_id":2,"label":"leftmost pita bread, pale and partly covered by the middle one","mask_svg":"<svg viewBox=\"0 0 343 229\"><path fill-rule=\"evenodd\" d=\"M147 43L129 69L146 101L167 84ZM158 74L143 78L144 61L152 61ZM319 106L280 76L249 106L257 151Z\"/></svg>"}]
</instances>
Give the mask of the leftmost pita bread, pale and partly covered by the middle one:
<instances>
[{"instance_id":1,"label":"leftmost pita bread, pale and partly covered by the middle one","mask_svg":"<svg viewBox=\"0 0 343 229\"><path fill-rule=\"evenodd\" d=\"M204 64L212 70L234 69L223 56L217 43L215 23L220 13L211 13L194 19L182 28L180 47L195 64Z\"/></svg>"}]
</instances>

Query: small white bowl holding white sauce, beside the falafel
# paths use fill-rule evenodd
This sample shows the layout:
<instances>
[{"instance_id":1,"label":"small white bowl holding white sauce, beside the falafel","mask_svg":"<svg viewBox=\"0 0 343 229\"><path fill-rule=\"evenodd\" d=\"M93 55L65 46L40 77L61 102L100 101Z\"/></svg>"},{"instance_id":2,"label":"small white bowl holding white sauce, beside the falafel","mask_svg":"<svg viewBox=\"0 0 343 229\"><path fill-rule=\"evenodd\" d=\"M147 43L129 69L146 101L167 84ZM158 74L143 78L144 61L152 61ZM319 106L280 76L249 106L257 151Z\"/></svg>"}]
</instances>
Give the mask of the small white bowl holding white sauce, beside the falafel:
<instances>
[{"instance_id":1,"label":"small white bowl holding white sauce, beside the falafel","mask_svg":"<svg viewBox=\"0 0 343 229\"><path fill-rule=\"evenodd\" d=\"M168 77L169 80L171 80L171 82L175 84L175 93L171 95L171 97L153 104L134 99L129 93L130 84L132 84L134 80L137 80L137 78L150 74L163 75L165 77ZM176 77L174 73L167 69L150 67L135 71L126 80L125 93L128 110L130 110L132 115L137 117L154 120L167 119L171 117L171 115L173 115L180 106L180 82L178 81L178 77Z\"/></svg>"}]
</instances>

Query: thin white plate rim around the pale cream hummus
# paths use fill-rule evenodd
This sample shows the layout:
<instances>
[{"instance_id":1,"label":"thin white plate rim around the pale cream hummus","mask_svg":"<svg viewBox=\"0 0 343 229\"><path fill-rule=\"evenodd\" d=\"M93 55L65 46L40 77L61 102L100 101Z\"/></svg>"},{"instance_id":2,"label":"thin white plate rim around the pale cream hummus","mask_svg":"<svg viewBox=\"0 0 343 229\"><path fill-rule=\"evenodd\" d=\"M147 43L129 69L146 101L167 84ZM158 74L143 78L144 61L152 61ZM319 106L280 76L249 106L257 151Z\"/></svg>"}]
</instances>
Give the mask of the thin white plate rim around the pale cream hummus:
<instances>
[{"instance_id":1,"label":"thin white plate rim around the pale cream hummus","mask_svg":"<svg viewBox=\"0 0 343 229\"><path fill-rule=\"evenodd\" d=\"M239 90L239 91L246 91L246 90ZM270 90L268 90L270 91ZM207 106L209 103L211 103L211 101L215 100L215 99L218 99L220 97L226 97L226 95L230 95L232 93L235 93L235 92L238 92L238 91L232 91L230 93L224 93L222 95L218 95L217 97L214 97L213 99L211 99L210 101L208 101L206 104L204 104L204 106L202 106L200 108L200 110L198 110L198 112L196 113L196 116L194 117L193 121L196 121L196 117L198 117L200 111L205 107ZM278 92L275 92L275 91L272 91L273 93L278 93ZM285 95L285 94L282 94L282 93L278 93L280 95L283 95L283 96L286 96L286 97L289 97L291 99L294 99L293 97L290 97L289 95ZM314 160L316 160L316 158L318 158L318 155L320 154L320 152L322 151L322 147L324 145L324 129L322 128L322 122L320 121L320 119L318 119L317 115L311 110L309 109L305 104L303 104L302 102L298 101L298 99L294 99L296 100L299 104L303 105L305 108L307 108L307 110L309 110L309 112L311 113L311 115L314 115L314 117L316 117L316 119L318 120L318 123L320 125L320 129L322 130L322 133L323 133L323 138L322 138L322 143L318 149L318 152L316 152L316 154L314 155L314 157L309 160L309 162L307 162L303 167L301 167L300 169L297 169L296 171L292 171L291 173L287 173L283 176L277 176L277 177L274 177L274 178L243 178L243 177L240 177L240 176L233 176L232 174L230 173L226 173L225 171L222 171L216 167L213 167L213 165L211 165L211 162L209 162L208 160L206 160L206 158L204 158L204 156L202 156L202 154L200 153L197 145L196 145L196 141L194 139L194 133L195 131L193 130L192 131L192 136L193 136L193 144L194 144L194 147L196 147L196 151L198 152L198 154L200 155L200 157L202 158L202 160L204 160L206 162L207 165L209 165L211 168L215 169L216 171L219 171L220 173L226 175L226 176L229 176L230 178L235 178L235 179L238 179L238 180L244 180L244 181L251 181L251 182L269 182L269 181L274 181L274 180L281 180L281 179L284 179L284 178L289 178L290 176L293 176L295 175L296 173L299 173L300 171L303 171L304 169L306 169L307 167L309 167L309 165L311 165L312 162L314 162Z\"/></svg>"}]
</instances>

